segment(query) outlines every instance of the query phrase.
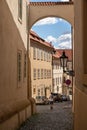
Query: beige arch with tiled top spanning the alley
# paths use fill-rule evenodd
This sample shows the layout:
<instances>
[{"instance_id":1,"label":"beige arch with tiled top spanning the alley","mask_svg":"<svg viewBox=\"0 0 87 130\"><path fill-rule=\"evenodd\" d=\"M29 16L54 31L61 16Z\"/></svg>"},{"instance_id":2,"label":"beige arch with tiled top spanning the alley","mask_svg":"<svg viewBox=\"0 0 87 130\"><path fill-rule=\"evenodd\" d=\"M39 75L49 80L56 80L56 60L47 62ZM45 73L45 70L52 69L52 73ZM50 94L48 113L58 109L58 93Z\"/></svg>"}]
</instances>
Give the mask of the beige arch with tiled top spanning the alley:
<instances>
[{"instance_id":1,"label":"beige arch with tiled top spanning the alley","mask_svg":"<svg viewBox=\"0 0 87 130\"><path fill-rule=\"evenodd\" d=\"M61 17L74 26L73 2L30 2L29 29L38 20L50 16Z\"/></svg>"}]
</instances>

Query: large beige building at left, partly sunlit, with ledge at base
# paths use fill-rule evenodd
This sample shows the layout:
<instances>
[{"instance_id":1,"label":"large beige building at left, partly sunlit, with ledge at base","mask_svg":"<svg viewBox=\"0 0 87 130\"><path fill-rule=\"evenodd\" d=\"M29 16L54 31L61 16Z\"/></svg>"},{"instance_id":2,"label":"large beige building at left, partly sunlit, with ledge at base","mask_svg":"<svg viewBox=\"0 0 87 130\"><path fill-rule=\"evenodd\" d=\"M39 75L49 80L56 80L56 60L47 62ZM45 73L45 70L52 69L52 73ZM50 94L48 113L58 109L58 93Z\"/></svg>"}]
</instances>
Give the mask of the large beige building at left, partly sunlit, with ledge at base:
<instances>
[{"instance_id":1,"label":"large beige building at left, partly sunlit, with ledge at base","mask_svg":"<svg viewBox=\"0 0 87 130\"><path fill-rule=\"evenodd\" d=\"M34 112L27 84L26 0L0 0L0 130L14 130Z\"/></svg>"}]
</instances>

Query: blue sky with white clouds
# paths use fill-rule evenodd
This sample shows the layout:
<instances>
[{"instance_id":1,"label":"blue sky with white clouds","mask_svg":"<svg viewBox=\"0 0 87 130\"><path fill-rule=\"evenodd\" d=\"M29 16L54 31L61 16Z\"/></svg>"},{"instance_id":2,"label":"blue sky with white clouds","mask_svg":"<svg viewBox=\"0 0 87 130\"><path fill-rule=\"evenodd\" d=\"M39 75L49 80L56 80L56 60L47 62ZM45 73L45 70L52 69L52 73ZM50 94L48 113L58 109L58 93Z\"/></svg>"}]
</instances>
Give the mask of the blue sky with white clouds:
<instances>
[{"instance_id":1,"label":"blue sky with white clouds","mask_svg":"<svg viewBox=\"0 0 87 130\"><path fill-rule=\"evenodd\" d=\"M31 0L31 1L42 2L47 0ZM50 1L58 1L58 0L50 0ZM55 48L58 49L72 48L71 24L65 21L64 19L58 17L47 17L41 19L32 26L32 30L47 42L51 42Z\"/></svg>"}]
</instances>

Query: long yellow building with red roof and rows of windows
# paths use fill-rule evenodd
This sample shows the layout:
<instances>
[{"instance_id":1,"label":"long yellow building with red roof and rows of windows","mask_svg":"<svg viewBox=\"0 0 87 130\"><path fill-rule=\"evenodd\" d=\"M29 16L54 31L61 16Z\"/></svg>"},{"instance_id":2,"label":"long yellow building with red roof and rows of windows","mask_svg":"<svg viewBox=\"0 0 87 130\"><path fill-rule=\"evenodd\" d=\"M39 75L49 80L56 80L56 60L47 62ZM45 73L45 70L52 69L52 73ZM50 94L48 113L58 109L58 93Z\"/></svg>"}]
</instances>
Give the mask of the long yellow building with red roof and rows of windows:
<instances>
[{"instance_id":1,"label":"long yellow building with red roof and rows of windows","mask_svg":"<svg viewBox=\"0 0 87 130\"><path fill-rule=\"evenodd\" d=\"M32 97L49 97L52 91L52 51L53 46L30 32L30 61Z\"/></svg>"}]
</instances>

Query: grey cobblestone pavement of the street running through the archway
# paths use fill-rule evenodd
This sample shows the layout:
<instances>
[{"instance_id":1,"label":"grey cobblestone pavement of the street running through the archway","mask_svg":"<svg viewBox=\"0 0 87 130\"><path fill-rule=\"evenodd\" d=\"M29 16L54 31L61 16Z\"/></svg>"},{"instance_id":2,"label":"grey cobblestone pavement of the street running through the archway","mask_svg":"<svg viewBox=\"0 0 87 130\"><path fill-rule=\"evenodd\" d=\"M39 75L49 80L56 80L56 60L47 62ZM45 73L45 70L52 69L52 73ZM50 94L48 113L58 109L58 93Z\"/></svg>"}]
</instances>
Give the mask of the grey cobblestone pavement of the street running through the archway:
<instances>
[{"instance_id":1,"label":"grey cobblestone pavement of the street running through the archway","mask_svg":"<svg viewBox=\"0 0 87 130\"><path fill-rule=\"evenodd\" d=\"M37 105L37 113L31 116L19 130L73 130L71 102Z\"/></svg>"}]
</instances>

